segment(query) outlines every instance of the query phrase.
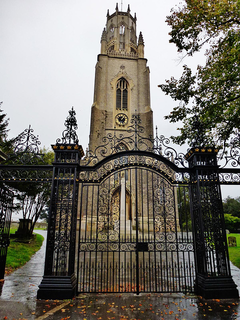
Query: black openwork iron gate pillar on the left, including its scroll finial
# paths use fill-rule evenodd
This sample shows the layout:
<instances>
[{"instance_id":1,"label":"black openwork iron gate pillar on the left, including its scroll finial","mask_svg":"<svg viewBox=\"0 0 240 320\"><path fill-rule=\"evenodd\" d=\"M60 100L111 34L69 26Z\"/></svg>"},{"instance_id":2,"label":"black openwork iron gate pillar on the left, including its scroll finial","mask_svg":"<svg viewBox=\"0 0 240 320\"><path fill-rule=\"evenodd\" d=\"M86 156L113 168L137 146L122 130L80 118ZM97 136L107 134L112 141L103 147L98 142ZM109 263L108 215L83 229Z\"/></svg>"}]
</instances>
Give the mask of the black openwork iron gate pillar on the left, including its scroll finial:
<instances>
[{"instance_id":1,"label":"black openwork iron gate pillar on the left, including its scroll finial","mask_svg":"<svg viewBox=\"0 0 240 320\"><path fill-rule=\"evenodd\" d=\"M55 157L49 207L44 275L38 299L69 299L75 295L75 243L78 197L78 166L84 155L75 131L75 111L65 121L62 143L52 146ZM71 139L73 143L70 143Z\"/></svg>"}]
</instances>

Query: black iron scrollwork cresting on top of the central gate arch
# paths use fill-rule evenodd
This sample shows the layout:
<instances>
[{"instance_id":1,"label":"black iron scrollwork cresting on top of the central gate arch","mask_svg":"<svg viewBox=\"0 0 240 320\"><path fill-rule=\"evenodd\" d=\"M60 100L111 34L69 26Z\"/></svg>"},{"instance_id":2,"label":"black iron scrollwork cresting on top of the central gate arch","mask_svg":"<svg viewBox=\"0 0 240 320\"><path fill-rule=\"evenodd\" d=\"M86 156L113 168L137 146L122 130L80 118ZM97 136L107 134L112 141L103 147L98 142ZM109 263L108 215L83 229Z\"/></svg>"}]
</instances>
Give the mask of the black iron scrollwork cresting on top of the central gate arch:
<instances>
[{"instance_id":1,"label":"black iron scrollwork cresting on top of the central gate arch","mask_svg":"<svg viewBox=\"0 0 240 320\"><path fill-rule=\"evenodd\" d=\"M95 150L87 151L87 155L83 158L82 165L94 165L99 162L101 157L106 157L111 154L124 150L148 151L159 154L176 165L188 168L188 162L185 159L184 153L177 153L169 146L170 140L163 135L158 136L157 127L156 135L153 137L143 136L144 127L141 125L139 114L132 114L130 125L126 128L126 135L117 133L114 128L114 133L107 133L102 138L102 144L97 146Z\"/></svg>"}]
</instances>

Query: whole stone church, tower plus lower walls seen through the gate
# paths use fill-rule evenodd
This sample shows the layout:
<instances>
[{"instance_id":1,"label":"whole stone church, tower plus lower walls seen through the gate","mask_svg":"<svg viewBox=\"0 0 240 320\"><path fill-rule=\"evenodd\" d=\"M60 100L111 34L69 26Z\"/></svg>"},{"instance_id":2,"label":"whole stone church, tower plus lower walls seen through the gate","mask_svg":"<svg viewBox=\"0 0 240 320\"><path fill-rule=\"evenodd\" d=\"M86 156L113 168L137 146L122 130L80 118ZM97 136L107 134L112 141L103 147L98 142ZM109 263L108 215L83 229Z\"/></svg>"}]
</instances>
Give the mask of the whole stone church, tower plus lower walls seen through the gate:
<instances>
[{"instance_id":1,"label":"whole stone church, tower plus lower walls seen through the gate","mask_svg":"<svg viewBox=\"0 0 240 320\"><path fill-rule=\"evenodd\" d=\"M153 151L150 71L146 63L142 33L136 36L136 14L131 15L129 5L127 12L119 11L116 5L114 13L110 15L107 11L106 27L101 35L95 66L89 150L82 164L93 165L119 151ZM123 161L120 164L124 164L124 160L129 165L127 156L120 158L120 162ZM163 189L169 189L168 200L173 202L176 191L166 186L159 176L147 170L115 170L104 186L96 190L95 186L87 185L80 192L80 229L86 234L97 230L99 238L106 233L131 236L135 234L137 218L142 237L152 236L149 232L153 232L154 224L159 231L179 228L177 208L177 226L173 222L166 223L175 218L171 214L168 216L169 208L163 209L160 203ZM172 209L173 205L169 207ZM158 216L158 222L154 221L154 211L163 210L165 219Z\"/></svg>"}]
</instances>

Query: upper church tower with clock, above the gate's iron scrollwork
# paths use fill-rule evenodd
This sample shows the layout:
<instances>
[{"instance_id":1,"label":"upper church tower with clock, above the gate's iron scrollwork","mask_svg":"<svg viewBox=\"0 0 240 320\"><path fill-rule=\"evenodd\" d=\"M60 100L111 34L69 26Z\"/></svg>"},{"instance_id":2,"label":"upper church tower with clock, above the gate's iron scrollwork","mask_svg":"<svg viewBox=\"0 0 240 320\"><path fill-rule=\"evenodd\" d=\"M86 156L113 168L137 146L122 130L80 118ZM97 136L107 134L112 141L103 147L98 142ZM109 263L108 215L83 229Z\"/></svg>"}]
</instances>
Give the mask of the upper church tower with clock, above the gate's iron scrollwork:
<instances>
[{"instance_id":1,"label":"upper church tower with clock, above the gate's iron scrollwork","mask_svg":"<svg viewBox=\"0 0 240 320\"><path fill-rule=\"evenodd\" d=\"M102 144L108 133L127 135L132 114L139 114L144 137L153 133L149 68L144 58L141 32L136 36L136 14L119 11L109 15L101 35L101 51L95 66L89 150Z\"/></svg>"}]
</instances>

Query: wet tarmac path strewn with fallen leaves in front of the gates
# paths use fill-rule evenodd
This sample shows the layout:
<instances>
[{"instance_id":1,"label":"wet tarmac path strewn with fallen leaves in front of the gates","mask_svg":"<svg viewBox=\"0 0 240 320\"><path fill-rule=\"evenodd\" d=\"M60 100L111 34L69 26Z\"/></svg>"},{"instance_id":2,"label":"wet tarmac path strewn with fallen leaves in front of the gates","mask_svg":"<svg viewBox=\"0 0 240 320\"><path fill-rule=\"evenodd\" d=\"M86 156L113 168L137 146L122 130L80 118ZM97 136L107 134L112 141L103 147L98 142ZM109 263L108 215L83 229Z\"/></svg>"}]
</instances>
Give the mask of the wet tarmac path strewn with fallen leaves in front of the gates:
<instances>
[{"instance_id":1,"label":"wet tarmac path strewn with fallen leaves in front of the gates","mask_svg":"<svg viewBox=\"0 0 240 320\"><path fill-rule=\"evenodd\" d=\"M197 296L161 293L84 294L74 300L36 300L44 268L43 245L21 268L5 276L0 295L0 320L240 320L238 299L204 300ZM240 270L231 264L240 289Z\"/></svg>"}]
</instances>

